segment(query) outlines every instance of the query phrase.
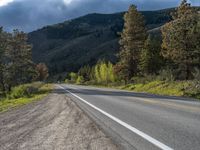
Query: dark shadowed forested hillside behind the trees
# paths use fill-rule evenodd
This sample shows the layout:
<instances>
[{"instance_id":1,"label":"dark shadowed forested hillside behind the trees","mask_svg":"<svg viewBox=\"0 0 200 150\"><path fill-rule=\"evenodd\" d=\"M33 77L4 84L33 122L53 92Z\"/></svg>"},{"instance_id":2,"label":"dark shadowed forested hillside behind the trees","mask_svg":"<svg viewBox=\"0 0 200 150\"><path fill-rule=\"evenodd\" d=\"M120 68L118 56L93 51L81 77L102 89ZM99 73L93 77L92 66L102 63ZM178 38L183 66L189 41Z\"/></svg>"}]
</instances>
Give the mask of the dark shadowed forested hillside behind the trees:
<instances>
[{"instance_id":1,"label":"dark shadowed forested hillside behind the trees","mask_svg":"<svg viewBox=\"0 0 200 150\"><path fill-rule=\"evenodd\" d=\"M170 21L173 10L143 11L148 30ZM98 59L115 62L123 15L89 14L29 33L34 61L45 62L52 74L76 71Z\"/></svg>"}]
</instances>

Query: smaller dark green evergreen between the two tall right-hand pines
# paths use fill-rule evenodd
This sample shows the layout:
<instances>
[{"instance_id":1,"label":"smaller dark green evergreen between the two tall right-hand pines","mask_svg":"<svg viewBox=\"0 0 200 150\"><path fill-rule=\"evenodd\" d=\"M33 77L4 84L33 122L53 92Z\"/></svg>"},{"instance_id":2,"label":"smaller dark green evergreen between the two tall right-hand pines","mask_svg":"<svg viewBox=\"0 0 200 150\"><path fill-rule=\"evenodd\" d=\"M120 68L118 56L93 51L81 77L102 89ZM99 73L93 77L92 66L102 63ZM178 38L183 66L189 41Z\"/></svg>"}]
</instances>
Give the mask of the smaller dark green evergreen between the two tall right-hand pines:
<instances>
[{"instance_id":1,"label":"smaller dark green evergreen between the two tall right-hand pines","mask_svg":"<svg viewBox=\"0 0 200 150\"><path fill-rule=\"evenodd\" d=\"M139 68L142 74L156 74L159 71L163 62L160 51L161 42L149 35L141 52Z\"/></svg>"}]
</instances>

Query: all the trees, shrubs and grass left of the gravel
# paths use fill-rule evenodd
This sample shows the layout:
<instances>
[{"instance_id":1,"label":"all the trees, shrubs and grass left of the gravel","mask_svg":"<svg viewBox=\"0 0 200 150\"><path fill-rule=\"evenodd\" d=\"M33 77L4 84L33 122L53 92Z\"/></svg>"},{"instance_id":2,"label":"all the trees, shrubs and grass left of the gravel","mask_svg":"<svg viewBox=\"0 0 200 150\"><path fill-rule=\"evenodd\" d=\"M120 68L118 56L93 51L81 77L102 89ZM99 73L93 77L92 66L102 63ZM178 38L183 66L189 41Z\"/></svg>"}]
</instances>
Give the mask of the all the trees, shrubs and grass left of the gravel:
<instances>
[{"instance_id":1,"label":"all the trees, shrubs and grass left of the gravel","mask_svg":"<svg viewBox=\"0 0 200 150\"><path fill-rule=\"evenodd\" d=\"M0 112L44 97L51 89L43 83L48 75L44 63L32 61L32 46L24 32L0 28Z\"/></svg>"}]
</instances>

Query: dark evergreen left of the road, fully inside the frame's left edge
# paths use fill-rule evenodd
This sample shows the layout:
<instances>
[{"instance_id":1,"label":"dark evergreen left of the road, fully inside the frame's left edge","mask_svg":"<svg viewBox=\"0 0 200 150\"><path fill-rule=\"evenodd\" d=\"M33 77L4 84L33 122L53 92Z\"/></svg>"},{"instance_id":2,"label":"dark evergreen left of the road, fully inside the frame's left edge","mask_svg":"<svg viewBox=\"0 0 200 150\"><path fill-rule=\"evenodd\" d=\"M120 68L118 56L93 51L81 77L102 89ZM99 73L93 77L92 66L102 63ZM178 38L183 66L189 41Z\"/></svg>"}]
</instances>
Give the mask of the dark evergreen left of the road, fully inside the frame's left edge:
<instances>
[{"instance_id":1,"label":"dark evergreen left of the road, fully inside the frame's left edge","mask_svg":"<svg viewBox=\"0 0 200 150\"><path fill-rule=\"evenodd\" d=\"M7 57L9 90L11 86L27 83L34 79L36 71L32 61L31 45L27 44L27 35L24 32L14 30L9 39Z\"/></svg>"}]
</instances>

